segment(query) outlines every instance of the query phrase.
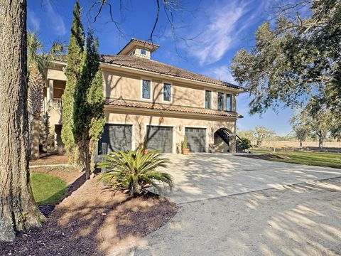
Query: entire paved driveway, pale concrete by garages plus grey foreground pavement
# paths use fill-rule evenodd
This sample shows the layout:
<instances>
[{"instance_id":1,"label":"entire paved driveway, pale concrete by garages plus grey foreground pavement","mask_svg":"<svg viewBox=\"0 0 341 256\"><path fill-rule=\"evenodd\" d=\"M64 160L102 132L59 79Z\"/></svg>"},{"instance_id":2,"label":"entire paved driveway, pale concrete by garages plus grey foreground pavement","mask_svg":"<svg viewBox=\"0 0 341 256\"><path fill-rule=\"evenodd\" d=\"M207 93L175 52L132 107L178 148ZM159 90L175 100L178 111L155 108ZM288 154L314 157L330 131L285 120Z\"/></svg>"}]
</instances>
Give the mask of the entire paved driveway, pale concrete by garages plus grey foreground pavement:
<instances>
[{"instance_id":1,"label":"entire paved driveway, pale concrete by garages plus grey foreground pavement","mask_svg":"<svg viewBox=\"0 0 341 256\"><path fill-rule=\"evenodd\" d=\"M112 255L340 255L341 170L231 154L169 154L180 206ZM336 193L335 193L336 192Z\"/></svg>"}]
</instances>

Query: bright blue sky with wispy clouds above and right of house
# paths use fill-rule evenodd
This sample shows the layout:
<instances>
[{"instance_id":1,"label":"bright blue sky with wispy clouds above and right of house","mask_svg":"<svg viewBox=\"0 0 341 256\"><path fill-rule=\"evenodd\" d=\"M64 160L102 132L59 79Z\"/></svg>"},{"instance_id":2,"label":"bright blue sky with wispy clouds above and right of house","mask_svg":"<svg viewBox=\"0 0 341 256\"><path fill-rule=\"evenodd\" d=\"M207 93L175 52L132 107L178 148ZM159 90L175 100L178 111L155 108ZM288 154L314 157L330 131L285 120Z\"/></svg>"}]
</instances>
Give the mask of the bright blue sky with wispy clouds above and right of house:
<instances>
[{"instance_id":1,"label":"bright blue sky with wispy clouds above and right of house","mask_svg":"<svg viewBox=\"0 0 341 256\"><path fill-rule=\"evenodd\" d=\"M28 0L28 30L36 31L46 46L55 40L67 43L74 2ZM87 15L92 0L80 0L83 25L85 28L94 28L99 38L99 51L104 54L116 54L131 37L147 39L156 17L155 0L125 0L121 11L119 1L111 2L113 16L119 21L124 36L110 22L108 6L104 7L96 23L93 23ZM176 41L161 9L153 38L154 43L161 47L153 53L152 58L212 78L234 82L229 64L237 50L251 48L256 28L264 21L269 21L273 7L271 3L271 0L187 0L175 15ZM291 110L284 108L278 113L269 110L262 117L258 114L250 116L248 102L248 94L237 98L237 111L244 115L244 119L237 122L239 129L264 125L279 135L291 131L288 122Z\"/></svg>"}]
</instances>

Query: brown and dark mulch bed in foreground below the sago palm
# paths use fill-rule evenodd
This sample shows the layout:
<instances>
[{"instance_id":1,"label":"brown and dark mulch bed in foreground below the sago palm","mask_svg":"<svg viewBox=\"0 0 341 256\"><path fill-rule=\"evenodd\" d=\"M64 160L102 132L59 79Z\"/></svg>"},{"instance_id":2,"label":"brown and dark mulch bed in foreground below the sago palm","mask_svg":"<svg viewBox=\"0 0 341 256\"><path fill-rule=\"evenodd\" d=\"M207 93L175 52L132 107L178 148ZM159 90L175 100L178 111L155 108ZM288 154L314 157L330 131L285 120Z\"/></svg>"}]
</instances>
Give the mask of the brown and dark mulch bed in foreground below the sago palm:
<instances>
[{"instance_id":1,"label":"brown and dark mulch bed in foreground below the sago palm","mask_svg":"<svg viewBox=\"0 0 341 256\"><path fill-rule=\"evenodd\" d=\"M40 209L48 222L0 242L1 255L106 255L157 230L178 210L151 193L129 197L95 179L75 186L57 206Z\"/></svg>"}]
</instances>

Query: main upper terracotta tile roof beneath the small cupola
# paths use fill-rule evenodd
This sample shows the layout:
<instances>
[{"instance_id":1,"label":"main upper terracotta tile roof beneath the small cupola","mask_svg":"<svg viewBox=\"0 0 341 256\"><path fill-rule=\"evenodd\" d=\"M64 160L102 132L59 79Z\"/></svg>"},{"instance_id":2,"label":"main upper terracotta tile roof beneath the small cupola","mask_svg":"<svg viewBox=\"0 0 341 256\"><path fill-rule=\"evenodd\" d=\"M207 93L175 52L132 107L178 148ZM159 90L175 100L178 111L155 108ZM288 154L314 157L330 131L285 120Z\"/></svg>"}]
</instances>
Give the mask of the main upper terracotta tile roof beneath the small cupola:
<instances>
[{"instance_id":1,"label":"main upper terracotta tile roof beneath the small cupola","mask_svg":"<svg viewBox=\"0 0 341 256\"><path fill-rule=\"evenodd\" d=\"M66 61L65 55L58 55L55 60ZM199 82L207 82L214 85L221 85L225 87L231 87L234 89L243 90L244 88L238 85L233 85L229 82L224 82L222 80L217 80L215 78L210 78L205 75L200 75L193 73L182 68L176 68L172 65L167 65L160 63L156 60L149 60L147 58L139 58L130 55L101 55L102 63L109 63L114 65L120 65L128 68L136 68L139 70L145 70L149 72L159 73L163 75L171 75L177 78L185 78L190 80L195 80Z\"/></svg>"}]
</instances>

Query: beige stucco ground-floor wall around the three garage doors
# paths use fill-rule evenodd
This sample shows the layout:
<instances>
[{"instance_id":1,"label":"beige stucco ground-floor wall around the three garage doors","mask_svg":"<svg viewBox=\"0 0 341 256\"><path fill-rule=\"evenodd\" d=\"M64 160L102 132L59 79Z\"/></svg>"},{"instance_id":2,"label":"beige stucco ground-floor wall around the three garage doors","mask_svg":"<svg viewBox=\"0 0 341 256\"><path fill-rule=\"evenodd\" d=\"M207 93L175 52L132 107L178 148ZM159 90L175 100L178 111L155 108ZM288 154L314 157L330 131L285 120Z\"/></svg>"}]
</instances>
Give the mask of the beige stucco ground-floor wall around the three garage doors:
<instances>
[{"instance_id":1,"label":"beige stucco ground-floor wall around the three garage doors","mask_svg":"<svg viewBox=\"0 0 341 256\"><path fill-rule=\"evenodd\" d=\"M206 151L215 148L214 134L217 129L227 128L235 132L233 119L212 119L212 117L177 116L174 114L162 114L163 122L160 122L161 114L139 112L127 112L126 110L106 110L105 116L109 124L132 124L133 125L133 149L143 144L147 125L161 125L173 127L173 153L180 150L181 142L185 134L185 127L206 128Z\"/></svg>"}]
</instances>

